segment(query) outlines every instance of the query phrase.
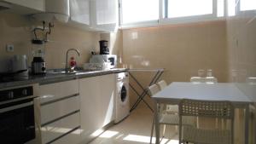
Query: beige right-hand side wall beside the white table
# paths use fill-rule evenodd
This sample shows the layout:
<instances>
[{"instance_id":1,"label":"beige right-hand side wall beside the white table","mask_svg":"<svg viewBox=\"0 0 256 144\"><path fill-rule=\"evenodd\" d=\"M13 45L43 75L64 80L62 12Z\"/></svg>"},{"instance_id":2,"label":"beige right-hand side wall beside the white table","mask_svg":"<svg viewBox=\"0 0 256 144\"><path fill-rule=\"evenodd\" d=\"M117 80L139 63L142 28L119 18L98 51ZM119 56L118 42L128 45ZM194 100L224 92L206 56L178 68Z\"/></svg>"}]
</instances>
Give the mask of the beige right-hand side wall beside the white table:
<instances>
[{"instance_id":1,"label":"beige right-hand side wall beside the white table","mask_svg":"<svg viewBox=\"0 0 256 144\"><path fill-rule=\"evenodd\" d=\"M229 54L229 81L236 83L237 87L251 100L256 101L256 80L254 83L245 83L247 78L256 78L256 13L255 11L238 14L227 19L227 41ZM244 118L243 112L237 112L236 119ZM252 117L255 123L255 117ZM243 130L242 124L237 127ZM255 141L255 124L249 125L249 143ZM236 142L242 143L241 135L236 134Z\"/></svg>"}]
</instances>

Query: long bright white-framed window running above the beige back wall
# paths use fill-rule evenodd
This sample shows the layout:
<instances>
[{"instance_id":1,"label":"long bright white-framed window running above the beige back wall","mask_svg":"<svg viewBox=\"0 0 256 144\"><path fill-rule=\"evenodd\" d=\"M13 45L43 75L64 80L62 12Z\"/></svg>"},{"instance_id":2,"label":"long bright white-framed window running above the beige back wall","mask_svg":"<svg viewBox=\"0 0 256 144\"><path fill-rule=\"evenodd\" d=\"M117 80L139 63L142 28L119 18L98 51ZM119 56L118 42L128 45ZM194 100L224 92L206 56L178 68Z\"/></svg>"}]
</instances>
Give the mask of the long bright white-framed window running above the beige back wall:
<instances>
[{"instance_id":1,"label":"long bright white-framed window running above the beige back wall","mask_svg":"<svg viewBox=\"0 0 256 144\"><path fill-rule=\"evenodd\" d=\"M241 2L240 2L241 1ZM119 0L123 28L224 20L241 9L256 9L256 0ZM239 3L239 4L238 4Z\"/></svg>"}]
</instances>

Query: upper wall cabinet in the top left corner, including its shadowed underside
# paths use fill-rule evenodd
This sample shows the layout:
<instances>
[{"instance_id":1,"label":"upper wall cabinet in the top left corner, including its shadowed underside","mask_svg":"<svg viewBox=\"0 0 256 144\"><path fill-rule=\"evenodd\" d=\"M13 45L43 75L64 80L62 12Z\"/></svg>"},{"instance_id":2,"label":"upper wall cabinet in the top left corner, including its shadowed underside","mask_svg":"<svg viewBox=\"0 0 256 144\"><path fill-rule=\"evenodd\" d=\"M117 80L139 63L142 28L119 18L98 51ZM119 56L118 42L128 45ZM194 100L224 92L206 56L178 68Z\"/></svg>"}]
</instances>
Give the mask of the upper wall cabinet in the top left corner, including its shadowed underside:
<instances>
[{"instance_id":1,"label":"upper wall cabinet in the top left corner, including its shadowed underside","mask_svg":"<svg viewBox=\"0 0 256 144\"><path fill-rule=\"evenodd\" d=\"M44 0L0 0L0 6L19 14L44 12Z\"/></svg>"}]
</instances>

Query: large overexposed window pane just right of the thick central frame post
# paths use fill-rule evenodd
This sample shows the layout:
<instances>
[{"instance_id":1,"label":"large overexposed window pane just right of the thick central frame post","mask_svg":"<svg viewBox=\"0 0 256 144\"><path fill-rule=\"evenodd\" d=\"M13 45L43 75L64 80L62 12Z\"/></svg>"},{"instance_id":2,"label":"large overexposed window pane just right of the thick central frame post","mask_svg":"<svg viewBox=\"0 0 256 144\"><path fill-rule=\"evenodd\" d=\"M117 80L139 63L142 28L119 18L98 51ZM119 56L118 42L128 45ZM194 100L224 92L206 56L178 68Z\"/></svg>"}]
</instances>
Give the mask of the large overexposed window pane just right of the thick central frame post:
<instances>
[{"instance_id":1,"label":"large overexposed window pane just right of the thick central frame post","mask_svg":"<svg viewBox=\"0 0 256 144\"><path fill-rule=\"evenodd\" d=\"M168 17L212 14L212 0L168 0Z\"/></svg>"}]
</instances>

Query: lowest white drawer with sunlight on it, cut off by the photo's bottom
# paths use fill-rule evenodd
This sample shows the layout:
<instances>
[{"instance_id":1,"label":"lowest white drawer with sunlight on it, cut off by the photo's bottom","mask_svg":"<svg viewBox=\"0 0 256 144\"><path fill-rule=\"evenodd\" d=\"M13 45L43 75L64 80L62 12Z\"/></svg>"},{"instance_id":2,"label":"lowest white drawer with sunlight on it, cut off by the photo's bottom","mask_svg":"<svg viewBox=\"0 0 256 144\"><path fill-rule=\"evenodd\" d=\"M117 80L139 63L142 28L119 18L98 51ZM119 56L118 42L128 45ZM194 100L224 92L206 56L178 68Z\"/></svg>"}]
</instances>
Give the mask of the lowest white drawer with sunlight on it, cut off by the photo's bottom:
<instances>
[{"instance_id":1,"label":"lowest white drawer with sunlight on it, cut off by the photo's bottom","mask_svg":"<svg viewBox=\"0 0 256 144\"><path fill-rule=\"evenodd\" d=\"M80 129L61 137L61 139L52 142L52 144L78 144L80 142Z\"/></svg>"}]
</instances>

